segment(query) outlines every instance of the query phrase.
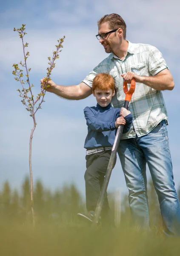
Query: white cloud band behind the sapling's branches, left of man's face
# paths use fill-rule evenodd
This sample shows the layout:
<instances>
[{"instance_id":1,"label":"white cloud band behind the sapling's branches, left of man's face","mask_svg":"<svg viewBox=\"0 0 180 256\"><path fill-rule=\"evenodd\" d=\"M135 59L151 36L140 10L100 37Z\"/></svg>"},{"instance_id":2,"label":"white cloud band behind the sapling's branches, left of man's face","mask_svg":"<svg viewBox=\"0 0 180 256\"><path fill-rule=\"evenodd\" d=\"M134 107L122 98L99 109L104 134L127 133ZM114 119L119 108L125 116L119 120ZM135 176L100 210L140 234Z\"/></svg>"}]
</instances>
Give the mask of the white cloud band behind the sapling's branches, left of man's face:
<instances>
[{"instance_id":1,"label":"white cloud band behind the sapling's branches, left of man's face","mask_svg":"<svg viewBox=\"0 0 180 256\"><path fill-rule=\"evenodd\" d=\"M66 35L66 38L53 74L63 77L69 75L76 77L77 73L80 72L89 73L95 65L107 57L91 29L79 27L78 35L71 28L60 29L60 31L27 29L27 32L28 35L24 39L25 42L29 43L29 47L26 48L30 52L27 63L32 68L32 73L46 71L48 67L47 58L52 57L52 51L56 49L57 39L62 38L63 35ZM1 33L6 39L0 41L0 47L4 49L0 52L0 64L2 69L7 72L12 63L23 60L23 49L20 38L17 34L13 34L15 32L1 31Z\"/></svg>"}]
</instances>

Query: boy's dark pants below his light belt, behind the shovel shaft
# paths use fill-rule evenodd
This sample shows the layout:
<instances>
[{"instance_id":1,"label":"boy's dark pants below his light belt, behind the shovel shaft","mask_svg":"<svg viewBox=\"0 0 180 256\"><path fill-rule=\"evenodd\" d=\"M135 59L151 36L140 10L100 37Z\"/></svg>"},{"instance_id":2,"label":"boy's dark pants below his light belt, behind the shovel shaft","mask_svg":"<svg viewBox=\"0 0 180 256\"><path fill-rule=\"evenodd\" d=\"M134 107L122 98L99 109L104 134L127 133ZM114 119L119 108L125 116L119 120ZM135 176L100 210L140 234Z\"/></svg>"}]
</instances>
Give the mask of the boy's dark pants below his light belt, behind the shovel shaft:
<instances>
[{"instance_id":1,"label":"boy's dark pants below his light belt, behind the shovel shaft","mask_svg":"<svg viewBox=\"0 0 180 256\"><path fill-rule=\"evenodd\" d=\"M100 196L100 189L103 186L110 156L111 150L86 155L87 169L84 178L86 182L86 208L88 211L95 211L96 209L97 201ZM110 218L107 192L104 198L101 218L102 221L103 219Z\"/></svg>"}]
</instances>

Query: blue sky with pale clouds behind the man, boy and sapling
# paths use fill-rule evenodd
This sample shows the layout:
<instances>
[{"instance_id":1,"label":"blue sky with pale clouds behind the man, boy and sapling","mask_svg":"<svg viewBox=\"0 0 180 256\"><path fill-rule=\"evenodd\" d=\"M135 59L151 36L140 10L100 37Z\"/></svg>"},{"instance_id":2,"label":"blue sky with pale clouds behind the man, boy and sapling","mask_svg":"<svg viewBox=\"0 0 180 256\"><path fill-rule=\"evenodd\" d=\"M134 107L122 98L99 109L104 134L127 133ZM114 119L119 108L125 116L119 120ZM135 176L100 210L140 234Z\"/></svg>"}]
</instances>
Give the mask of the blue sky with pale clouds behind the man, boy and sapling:
<instances>
[{"instance_id":1,"label":"blue sky with pale clouds behind the man, boy and sapling","mask_svg":"<svg viewBox=\"0 0 180 256\"><path fill-rule=\"evenodd\" d=\"M173 91L164 91L169 113L169 143L175 186L180 186L180 3L177 0L66 0L4 1L0 9L0 186L9 180L18 188L29 175L29 137L32 119L17 96L20 84L12 76L12 64L23 60L22 46L14 27L26 24L31 67L30 82L34 95L40 91L40 79L46 76L47 57L57 39L66 35L63 51L51 79L57 84L79 84L108 55L95 38L97 20L117 12L127 25L127 39L156 46L163 53L174 77ZM32 146L34 180L55 189L74 182L84 194L86 170L84 140L87 133L83 109L95 104L93 96L69 101L46 94L37 113L37 128ZM149 171L147 170L149 177ZM111 175L109 190L127 192L120 162Z\"/></svg>"}]
</instances>

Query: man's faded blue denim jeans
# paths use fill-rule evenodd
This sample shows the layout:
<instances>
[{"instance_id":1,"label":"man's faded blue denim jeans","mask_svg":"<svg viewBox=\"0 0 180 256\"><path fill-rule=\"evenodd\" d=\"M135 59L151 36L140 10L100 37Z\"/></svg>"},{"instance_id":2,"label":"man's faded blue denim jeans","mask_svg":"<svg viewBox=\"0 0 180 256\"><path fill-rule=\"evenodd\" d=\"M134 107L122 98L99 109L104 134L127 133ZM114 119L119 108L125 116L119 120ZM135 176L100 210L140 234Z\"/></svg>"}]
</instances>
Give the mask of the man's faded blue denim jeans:
<instances>
[{"instance_id":1,"label":"man's faded blue denim jeans","mask_svg":"<svg viewBox=\"0 0 180 256\"><path fill-rule=\"evenodd\" d=\"M174 188L166 121L161 121L145 136L120 140L118 154L134 221L149 227L147 163L160 203L165 233L180 236L180 202Z\"/></svg>"}]
</instances>

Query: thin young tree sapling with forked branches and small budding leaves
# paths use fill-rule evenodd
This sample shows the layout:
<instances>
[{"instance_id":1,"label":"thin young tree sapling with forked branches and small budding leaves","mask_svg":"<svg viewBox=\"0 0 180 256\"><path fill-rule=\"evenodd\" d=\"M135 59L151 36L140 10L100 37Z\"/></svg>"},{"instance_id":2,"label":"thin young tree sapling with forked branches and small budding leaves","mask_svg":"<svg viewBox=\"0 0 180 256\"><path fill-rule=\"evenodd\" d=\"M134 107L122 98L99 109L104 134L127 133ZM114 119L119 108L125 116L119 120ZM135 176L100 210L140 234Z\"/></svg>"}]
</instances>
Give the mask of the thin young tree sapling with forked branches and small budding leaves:
<instances>
[{"instance_id":1,"label":"thin young tree sapling with forked branches and small budding leaves","mask_svg":"<svg viewBox=\"0 0 180 256\"><path fill-rule=\"evenodd\" d=\"M53 51L53 56L52 58L48 57L48 64L49 67L47 68L47 73L46 73L46 78L44 79L44 83L41 84L41 90L40 93L37 94L36 98L34 98L34 95L32 93L32 87L34 86L33 84L30 84L29 81L29 72L31 71L31 68L27 67L27 58L29 57L29 51L26 52L26 47L28 47L28 43L24 43L24 36L27 34L25 32L25 26L22 24L22 27L19 29L14 28L14 31L18 32L22 44L23 44L23 62L20 61L18 64L13 64L14 70L13 70L13 75L14 79L16 81L20 81L20 84L22 86L21 90L17 89L19 92L19 96L21 97L21 102L23 105L26 106L26 110L30 112L30 116L33 119L34 126L31 130L31 135L30 135L30 141L29 141L29 172L30 172L30 195L31 195L31 212L32 212L32 220L33 220L33 225L35 224L34 222L34 209L33 209L33 179L32 179L32 164L31 164L31 147L32 147L32 138L33 138L33 133L36 128L36 119L35 119L35 114L38 111L38 109L41 108L42 103L44 102L44 96L46 94L45 88L48 88L49 85L47 85L48 81L51 80L51 72L53 68L55 67L55 60L59 58L59 52L62 51L61 48L63 48L63 41L65 36L63 38L60 38L57 40L58 44L56 45L56 50ZM25 73L26 80L23 80L23 73ZM26 86L25 86L26 84Z\"/></svg>"}]
</instances>

